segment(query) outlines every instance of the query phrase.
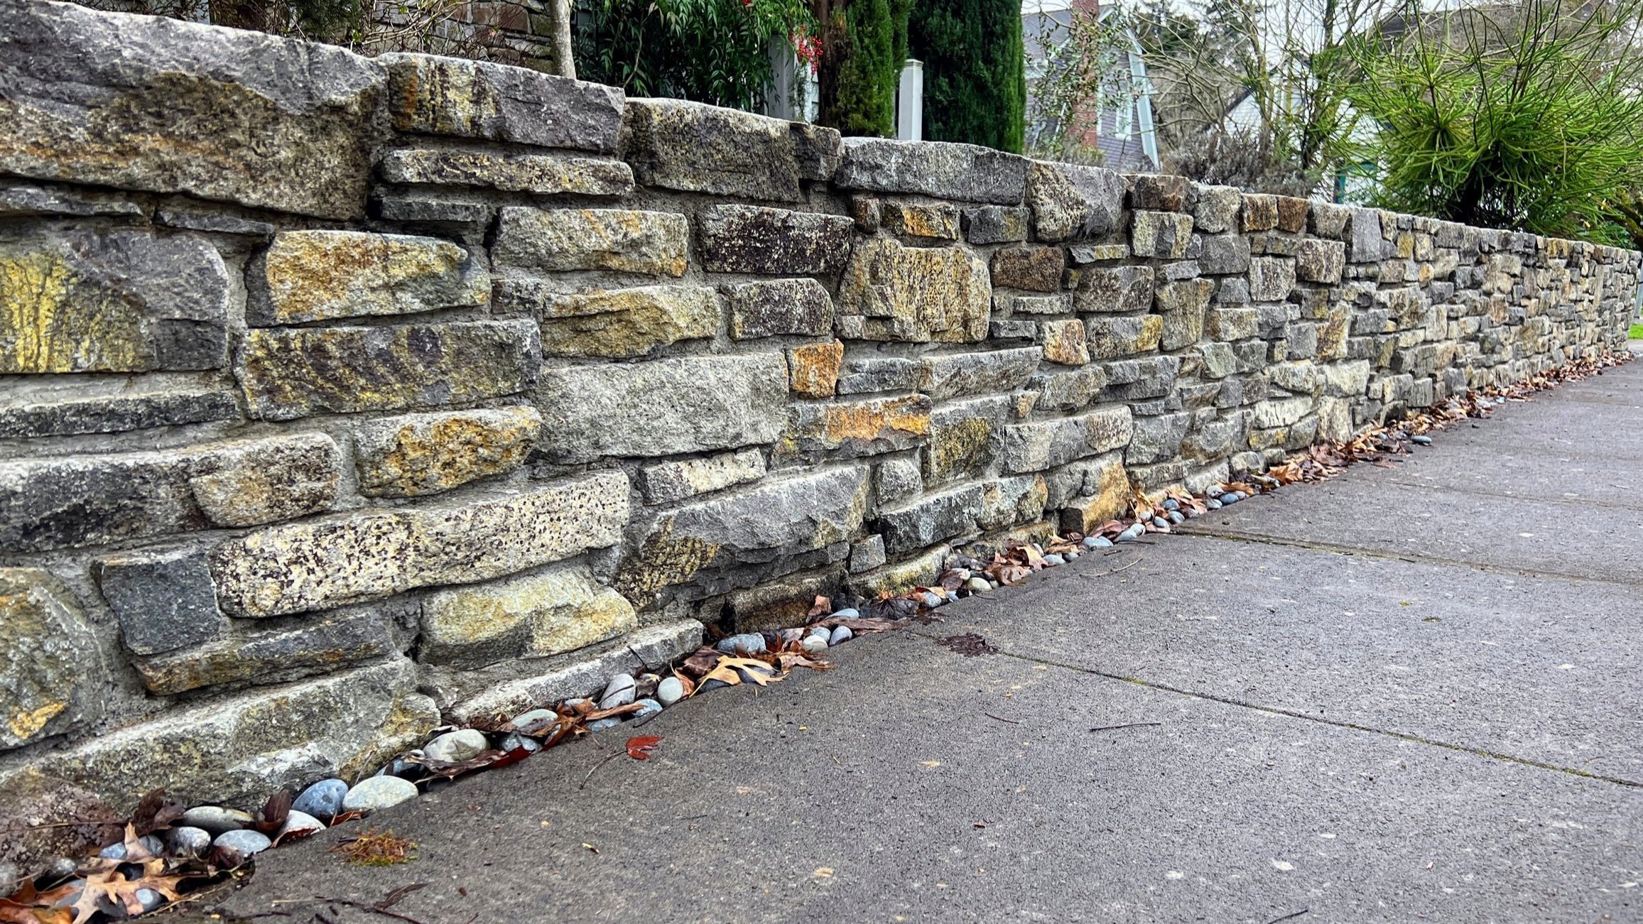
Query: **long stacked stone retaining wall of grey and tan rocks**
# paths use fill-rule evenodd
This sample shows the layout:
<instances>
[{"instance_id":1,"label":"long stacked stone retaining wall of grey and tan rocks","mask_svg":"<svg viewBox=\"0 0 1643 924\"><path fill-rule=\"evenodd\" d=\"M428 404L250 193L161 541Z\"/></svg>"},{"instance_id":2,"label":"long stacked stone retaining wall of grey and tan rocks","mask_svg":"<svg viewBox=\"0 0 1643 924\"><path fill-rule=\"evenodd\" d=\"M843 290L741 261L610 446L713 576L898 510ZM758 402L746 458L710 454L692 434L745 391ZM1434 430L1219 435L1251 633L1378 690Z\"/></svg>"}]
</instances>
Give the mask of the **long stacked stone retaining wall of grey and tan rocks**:
<instances>
[{"instance_id":1,"label":"long stacked stone retaining wall of grey and tan rocks","mask_svg":"<svg viewBox=\"0 0 1643 924\"><path fill-rule=\"evenodd\" d=\"M261 801L1620 344L1638 255L0 0L0 774ZM0 784L3 786L3 784Z\"/></svg>"}]
</instances>

